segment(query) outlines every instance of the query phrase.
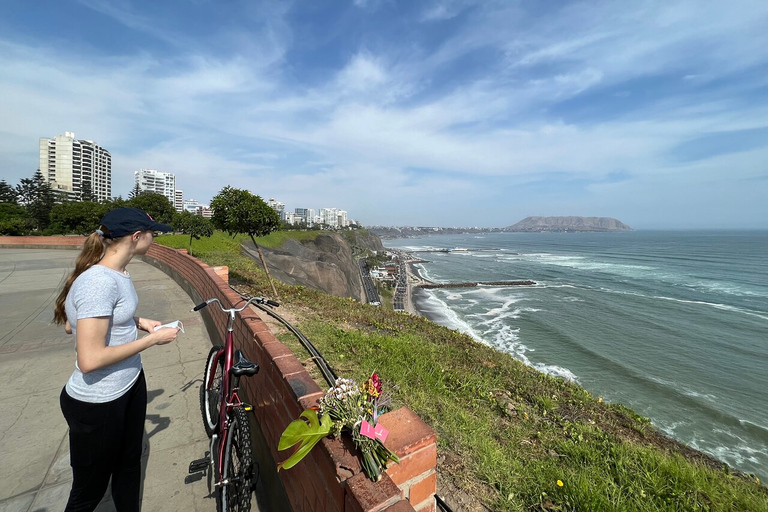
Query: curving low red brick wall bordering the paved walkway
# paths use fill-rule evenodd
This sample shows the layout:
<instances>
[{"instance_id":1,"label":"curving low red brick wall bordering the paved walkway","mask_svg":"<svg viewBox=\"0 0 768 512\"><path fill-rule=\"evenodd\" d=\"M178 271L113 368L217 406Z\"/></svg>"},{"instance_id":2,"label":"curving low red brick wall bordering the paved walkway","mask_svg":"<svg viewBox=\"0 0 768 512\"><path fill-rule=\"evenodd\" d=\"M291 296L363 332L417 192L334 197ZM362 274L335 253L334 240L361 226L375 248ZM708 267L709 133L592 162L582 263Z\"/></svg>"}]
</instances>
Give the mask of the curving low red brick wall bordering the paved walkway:
<instances>
[{"instance_id":1,"label":"curving low red brick wall bordering the paved walkway","mask_svg":"<svg viewBox=\"0 0 768 512\"><path fill-rule=\"evenodd\" d=\"M82 240L82 237L0 237L0 247L74 248L82 244ZM143 259L171 276L196 303L217 297L228 307L240 299L222 279L226 277L225 267L211 268L184 250L153 244ZM213 342L222 343L226 316L218 308L206 308L201 313ZM296 512L435 510L437 437L408 408L389 412L379 419L389 430L387 447L400 457L400 464L391 465L378 482L371 482L362 472L348 436L325 438L299 464L274 473L271 470L275 467L274 461L290 453L278 454L280 435L301 411L317 404L323 390L255 312L244 311L237 317L234 334L236 346L261 367L258 375L244 379L241 386L254 405L254 442L257 453L261 454L266 494L275 501L273 510L284 509L279 504L282 500L287 500ZM275 484L279 484L284 493Z\"/></svg>"}]
</instances>

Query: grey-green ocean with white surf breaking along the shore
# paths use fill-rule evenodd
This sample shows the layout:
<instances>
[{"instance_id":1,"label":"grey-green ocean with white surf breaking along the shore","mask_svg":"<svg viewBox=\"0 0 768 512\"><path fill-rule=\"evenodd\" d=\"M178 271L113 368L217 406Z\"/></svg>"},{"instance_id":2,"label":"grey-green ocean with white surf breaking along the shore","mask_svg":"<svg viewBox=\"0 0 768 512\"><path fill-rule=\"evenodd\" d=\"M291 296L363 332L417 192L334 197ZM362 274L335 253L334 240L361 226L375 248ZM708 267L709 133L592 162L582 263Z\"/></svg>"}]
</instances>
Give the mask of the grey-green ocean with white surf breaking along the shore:
<instances>
[{"instance_id":1,"label":"grey-green ocean with white surf breaking along the shore","mask_svg":"<svg viewBox=\"0 0 768 512\"><path fill-rule=\"evenodd\" d=\"M768 231L487 233L384 240L438 283L432 320L619 402L768 481Z\"/></svg>"}]
</instances>

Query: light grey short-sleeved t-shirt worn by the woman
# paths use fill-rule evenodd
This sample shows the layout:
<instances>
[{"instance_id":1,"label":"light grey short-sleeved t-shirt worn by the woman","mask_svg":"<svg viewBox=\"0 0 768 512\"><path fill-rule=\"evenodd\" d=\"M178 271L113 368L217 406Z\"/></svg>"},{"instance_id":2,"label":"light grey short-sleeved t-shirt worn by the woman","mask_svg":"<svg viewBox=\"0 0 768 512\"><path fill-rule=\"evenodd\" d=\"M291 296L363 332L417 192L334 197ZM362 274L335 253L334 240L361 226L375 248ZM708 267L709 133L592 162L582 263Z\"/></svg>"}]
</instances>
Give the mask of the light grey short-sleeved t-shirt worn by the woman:
<instances>
[{"instance_id":1,"label":"light grey short-sleeved t-shirt worn by the woman","mask_svg":"<svg viewBox=\"0 0 768 512\"><path fill-rule=\"evenodd\" d=\"M136 340L134 321L139 299L131 276L104 265L94 265L80 274L67 294L67 319L77 336L77 321L82 318L109 317L106 345L114 347ZM77 367L67 382L67 394L83 402L109 402L125 394L141 371L141 355L136 354L104 368L83 373Z\"/></svg>"}]
</instances>

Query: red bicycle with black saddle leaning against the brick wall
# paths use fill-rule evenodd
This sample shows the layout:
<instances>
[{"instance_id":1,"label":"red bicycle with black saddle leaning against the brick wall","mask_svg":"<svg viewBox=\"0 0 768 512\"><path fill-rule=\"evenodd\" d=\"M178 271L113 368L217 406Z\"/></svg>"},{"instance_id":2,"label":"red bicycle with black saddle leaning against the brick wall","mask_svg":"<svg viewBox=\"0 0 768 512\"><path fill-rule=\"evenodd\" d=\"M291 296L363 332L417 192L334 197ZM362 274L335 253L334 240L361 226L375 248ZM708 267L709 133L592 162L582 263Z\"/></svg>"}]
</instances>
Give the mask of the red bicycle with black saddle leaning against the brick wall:
<instances>
[{"instance_id":1,"label":"red bicycle with black saddle leaning against the brick wall","mask_svg":"<svg viewBox=\"0 0 768 512\"><path fill-rule=\"evenodd\" d=\"M239 308L225 308L219 299L208 299L195 306L199 311L215 302L229 316L224 346L215 346L205 361L203 383L200 386L200 412L205 432L211 439L209 457L193 461L190 473L213 468L216 509L219 512L251 510L253 483L253 446L246 411L253 407L237 394L241 377L256 375L259 366L249 361L241 350L234 348L235 314L251 304L279 306L263 297L251 297Z\"/></svg>"}]
</instances>

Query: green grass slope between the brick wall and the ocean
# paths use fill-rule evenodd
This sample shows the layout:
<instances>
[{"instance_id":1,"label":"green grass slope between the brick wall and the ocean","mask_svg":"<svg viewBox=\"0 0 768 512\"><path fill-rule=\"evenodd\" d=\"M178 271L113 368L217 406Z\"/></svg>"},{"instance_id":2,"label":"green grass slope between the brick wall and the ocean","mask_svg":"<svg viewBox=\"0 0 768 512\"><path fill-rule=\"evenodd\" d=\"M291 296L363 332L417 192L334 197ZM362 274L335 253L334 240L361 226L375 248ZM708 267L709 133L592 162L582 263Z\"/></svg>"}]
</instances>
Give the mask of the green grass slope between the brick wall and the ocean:
<instances>
[{"instance_id":1,"label":"green grass slope between the brick wall and the ocean","mask_svg":"<svg viewBox=\"0 0 768 512\"><path fill-rule=\"evenodd\" d=\"M227 244L203 259L269 295L259 265ZM670 441L624 406L424 318L275 284L339 375L362 381L379 372L395 403L437 431L440 481L492 510L768 510L755 479ZM278 335L307 359L290 335Z\"/></svg>"}]
</instances>

